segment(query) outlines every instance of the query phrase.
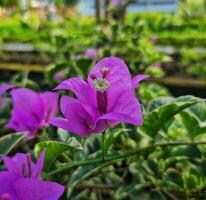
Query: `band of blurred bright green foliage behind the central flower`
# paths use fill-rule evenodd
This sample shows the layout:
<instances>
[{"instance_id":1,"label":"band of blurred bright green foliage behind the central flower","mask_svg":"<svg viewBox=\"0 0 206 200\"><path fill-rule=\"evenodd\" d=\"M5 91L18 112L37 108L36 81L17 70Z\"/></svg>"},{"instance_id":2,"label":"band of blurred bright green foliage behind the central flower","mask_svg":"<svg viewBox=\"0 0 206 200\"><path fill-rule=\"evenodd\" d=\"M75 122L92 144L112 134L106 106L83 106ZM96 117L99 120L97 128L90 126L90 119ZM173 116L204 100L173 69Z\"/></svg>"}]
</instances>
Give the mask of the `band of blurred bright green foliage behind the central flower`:
<instances>
[{"instance_id":1,"label":"band of blurred bright green foliage behind the central flower","mask_svg":"<svg viewBox=\"0 0 206 200\"><path fill-rule=\"evenodd\" d=\"M129 14L124 24L110 20L99 25L93 17L67 17L56 23L40 22L35 15L25 22L15 15L1 21L0 42L32 44L34 50L46 60L50 59L57 69L64 65L81 76L89 69L85 51L95 48L98 58L122 57L134 73L162 77L176 71L177 75L205 79L205 27L204 15L185 18L165 13ZM167 47L174 48L173 52L167 52ZM4 57L4 52L2 55ZM40 56L37 63L38 58ZM159 69L150 67L157 63L161 66Z\"/></svg>"}]
</instances>

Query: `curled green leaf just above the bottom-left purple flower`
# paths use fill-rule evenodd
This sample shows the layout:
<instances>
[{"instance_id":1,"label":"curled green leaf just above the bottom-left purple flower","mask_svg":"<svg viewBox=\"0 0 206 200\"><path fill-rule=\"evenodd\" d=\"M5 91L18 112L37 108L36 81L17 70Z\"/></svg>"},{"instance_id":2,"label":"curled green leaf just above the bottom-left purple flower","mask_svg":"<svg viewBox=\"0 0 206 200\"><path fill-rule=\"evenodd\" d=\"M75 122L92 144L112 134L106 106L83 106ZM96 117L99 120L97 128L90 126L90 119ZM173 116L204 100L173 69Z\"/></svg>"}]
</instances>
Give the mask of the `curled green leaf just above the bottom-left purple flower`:
<instances>
[{"instance_id":1,"label":"curled green leaf just above the bottom-left purple flower","mask_svg":"<svg viewBox=\"0 0 206 200\"><path fill-rule=\"evenodd\" d=\"M65 151L69 150L83 150L81 144L73 137L69 138L67 143L56 141L43 141L35 146L34 152L37 156L41 154L43 150L46 150L44 167L48 170L51 163L57 156L61 155Z\"/></svg>"}]
</instances>

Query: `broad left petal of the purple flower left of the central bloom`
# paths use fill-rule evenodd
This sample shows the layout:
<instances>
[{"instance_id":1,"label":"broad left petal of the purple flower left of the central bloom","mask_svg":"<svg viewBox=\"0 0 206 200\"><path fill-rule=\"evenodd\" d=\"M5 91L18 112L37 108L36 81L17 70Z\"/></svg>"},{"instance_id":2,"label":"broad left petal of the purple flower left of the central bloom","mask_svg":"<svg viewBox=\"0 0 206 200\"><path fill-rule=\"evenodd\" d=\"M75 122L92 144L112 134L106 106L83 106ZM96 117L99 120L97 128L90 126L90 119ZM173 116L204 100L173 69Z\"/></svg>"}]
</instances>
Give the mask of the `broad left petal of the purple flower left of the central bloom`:
<instances>
[{"instance_id":1,"label":"broad left petal of the purple flower left of the central bloom","mask_svg":"<svg viewBox=\"0 0 206 200\"><path fill-rule=\"evenodd\" d=\"M44 104L40 95L30 89L19 88L11 92L12 117L7 127L16 131L29 131L32 138L44 119Z\"/></svg>"}]
</instances>

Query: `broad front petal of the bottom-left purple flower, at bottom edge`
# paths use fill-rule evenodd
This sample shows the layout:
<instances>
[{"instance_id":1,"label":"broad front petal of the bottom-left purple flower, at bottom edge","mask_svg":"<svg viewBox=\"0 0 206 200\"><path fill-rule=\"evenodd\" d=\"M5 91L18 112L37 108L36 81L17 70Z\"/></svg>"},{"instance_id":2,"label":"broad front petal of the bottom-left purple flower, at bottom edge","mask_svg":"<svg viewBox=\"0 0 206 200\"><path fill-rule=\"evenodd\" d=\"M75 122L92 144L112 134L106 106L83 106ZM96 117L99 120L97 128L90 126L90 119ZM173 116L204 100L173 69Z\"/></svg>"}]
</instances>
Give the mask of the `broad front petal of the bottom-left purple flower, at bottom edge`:
<instances>
[{"instance_id":1,"label":"broad front petal of the bottom-left purple flower, at bottom edge","mask_svg":"<svg viewBox=\"0 0 206 200\"><path fill-rule=\"evenodd\" d=\"M64 192L62 185L32 178L19 179L13 184L13 187L18 193L19 199L22 200L57 200Z\"/></svg>"}]
</instances>

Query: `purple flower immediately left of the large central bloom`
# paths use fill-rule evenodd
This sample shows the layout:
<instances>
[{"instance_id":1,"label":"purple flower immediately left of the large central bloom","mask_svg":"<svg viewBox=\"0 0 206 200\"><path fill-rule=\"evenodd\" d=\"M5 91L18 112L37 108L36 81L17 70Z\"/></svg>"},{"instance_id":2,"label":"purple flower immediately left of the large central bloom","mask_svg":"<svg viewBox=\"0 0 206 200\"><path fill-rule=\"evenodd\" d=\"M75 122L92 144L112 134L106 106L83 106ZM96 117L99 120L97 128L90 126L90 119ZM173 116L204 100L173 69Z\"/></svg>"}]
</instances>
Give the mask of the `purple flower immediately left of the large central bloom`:
<instances>
[{"instance_id":1,"label":"purple flower immediately left of the large central bloom","mask_svg":"<svg viewBox=\"0 0 206 200\"><path fill-rule=\"evenodd\" d=\"M11 91L11 96L13 111L7 127L26 132L28 139L34 138L40 128L48 126L58 111L58 94L52 92L36 93L18 88Z\"/></svg>"}]
</instances>

